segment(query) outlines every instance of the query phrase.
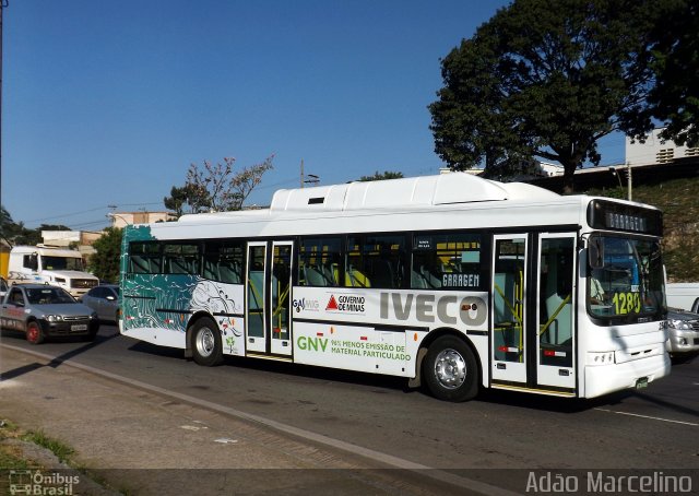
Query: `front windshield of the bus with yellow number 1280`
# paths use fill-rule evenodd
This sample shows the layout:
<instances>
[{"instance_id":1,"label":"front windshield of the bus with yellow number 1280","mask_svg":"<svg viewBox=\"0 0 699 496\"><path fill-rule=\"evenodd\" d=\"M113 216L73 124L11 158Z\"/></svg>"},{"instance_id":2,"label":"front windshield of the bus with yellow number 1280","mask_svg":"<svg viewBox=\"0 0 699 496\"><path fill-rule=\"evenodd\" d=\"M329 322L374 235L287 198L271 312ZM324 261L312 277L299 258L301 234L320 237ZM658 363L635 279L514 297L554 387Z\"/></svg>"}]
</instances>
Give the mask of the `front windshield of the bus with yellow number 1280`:
<instances>
[{"instance_id":1,"label":"front windshield of the bus with yellow number 1280","mask_svg":"<svg viewBox=\"0 0 699 496\"><path fill-rule=\"evenodd\" d=\"M596 318L662 318L664 279L660 241L594 235L588 311Z\"/></svg>"}]
</instances>

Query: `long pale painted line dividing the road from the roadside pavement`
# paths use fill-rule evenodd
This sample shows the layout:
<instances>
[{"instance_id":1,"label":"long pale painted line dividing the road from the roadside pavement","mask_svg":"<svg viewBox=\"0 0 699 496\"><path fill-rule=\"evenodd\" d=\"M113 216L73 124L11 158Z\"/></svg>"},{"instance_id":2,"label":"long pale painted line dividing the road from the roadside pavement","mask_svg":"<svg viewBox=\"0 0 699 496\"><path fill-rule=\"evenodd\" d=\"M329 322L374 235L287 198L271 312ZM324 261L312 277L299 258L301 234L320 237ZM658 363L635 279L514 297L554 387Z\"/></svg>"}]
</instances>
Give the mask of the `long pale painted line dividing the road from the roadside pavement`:
<instances>
[{"instance_id":1,"label":"long pale painted line dividing the road from the roadside pavement","mask_svg":"<svg viewBox=\"0 0 699 496\"><path fill-rule=\"evenodd\" d=\"M0 343L0 349L4 347L7 350L16 351L20 353L25 353L27 355L33 355L39 358L44 358L46 361L54 361L56 357L47 355L45 353L39 353L34 350L25 350L19 346L12 346L9 344ZM435 481L439 481L442 483L451 484L457 487L462 487L467 491L483 494L486 496L520 496L520 493L516 493L512 491L503 489L501 487L497 487L485 482L476 481L474 479L463 477L460 475L455 475L453 473L433 469L431 467L423 465L420 463L415 463L410 460L405 460L399 457L394 457L392 454L383 453L381 451L376 451L370 448L364 448L362 446L353 445L351 442L343 441L341 439L335 439L332 437L324 436L322 434L317 434L311 430L306 430L299 427L294 427L293 425L283 424L281 422L273 421L271 418L266 418L260 415L254 415L251 413L246 413L240 410L232 409L225 406L223 404L214 403L211 401L202 400L199 398L190 397L189 394L182 394L180 392L170 391L165 388L161 388L158 386L153 386L147 382L142 382L135 379L129 379L128 377L119 376L118 374L112 374L106 370L102 370L99 368L91 367L90 365L83 365L81 363L74 362L72 359L62 361L60 365L68 365L73 368L78 368L80 370L87 371L90 374L94 374L96 376L111 379L116 382L120 382L126 386L135 387L138 389L143 389L149 392L154 392L159 395L164 395L166 398L177 399L194 406L201 406L208 410L213 410L214 412L224 413L226 415L242 418L249 422L262 424L266 427L270 427L274 430L285 433L292 436L300 437L303 439L308 439L313 442L318 442L324 446L329 446L331 448L347 451L353 454L358 454L375 462L379 462L382 464L387 464L390 467L394 467L396 469L411 470L417 472L423 477L434 479Z\"/></svg>"}]
</instances>

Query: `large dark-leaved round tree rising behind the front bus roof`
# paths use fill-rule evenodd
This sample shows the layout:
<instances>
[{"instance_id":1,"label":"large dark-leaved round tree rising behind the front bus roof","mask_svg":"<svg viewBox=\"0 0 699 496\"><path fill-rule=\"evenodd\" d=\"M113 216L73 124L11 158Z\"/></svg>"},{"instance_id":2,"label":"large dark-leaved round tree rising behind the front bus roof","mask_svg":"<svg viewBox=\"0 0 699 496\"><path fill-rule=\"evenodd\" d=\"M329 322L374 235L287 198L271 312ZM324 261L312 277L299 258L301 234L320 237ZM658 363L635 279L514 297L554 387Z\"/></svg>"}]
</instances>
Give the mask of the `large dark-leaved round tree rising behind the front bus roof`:
<instances>
[{"instance_id":1,"label":"large dark-leaved round tree rising behind the front bus roof","mask_svg":"<svg viewBox=\"0 0 699 496\"><path fill-rule=\"evenodd\" d=\"M600 162L597 140L648 94L652 13L648 0L500 9L442 60L445 87L429 106L435 151L452 169L557 161L572 191L574 170Z\"/></svg>"}]
</instances>

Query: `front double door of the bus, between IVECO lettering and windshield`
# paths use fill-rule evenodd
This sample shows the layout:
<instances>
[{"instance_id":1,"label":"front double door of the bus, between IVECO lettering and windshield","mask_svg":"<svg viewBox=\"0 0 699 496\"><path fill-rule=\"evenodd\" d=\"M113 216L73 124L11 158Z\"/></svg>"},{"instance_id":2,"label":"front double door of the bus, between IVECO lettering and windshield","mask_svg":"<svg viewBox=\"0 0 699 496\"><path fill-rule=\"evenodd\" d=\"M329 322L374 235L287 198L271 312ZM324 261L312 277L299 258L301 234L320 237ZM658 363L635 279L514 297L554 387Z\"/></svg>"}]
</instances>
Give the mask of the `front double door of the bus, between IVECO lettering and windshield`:
<instances>
[{"instance_id":1,"label":"front double door of the bus, between IVECO lettering and windshield","mask_svg":"<svg viewBox=\"0 0 699 496\"><path fill-rule=\"evenodd\" d=\"M574 392L574 233L494 236L494 387Z\"/></svg>"}]
</instances>

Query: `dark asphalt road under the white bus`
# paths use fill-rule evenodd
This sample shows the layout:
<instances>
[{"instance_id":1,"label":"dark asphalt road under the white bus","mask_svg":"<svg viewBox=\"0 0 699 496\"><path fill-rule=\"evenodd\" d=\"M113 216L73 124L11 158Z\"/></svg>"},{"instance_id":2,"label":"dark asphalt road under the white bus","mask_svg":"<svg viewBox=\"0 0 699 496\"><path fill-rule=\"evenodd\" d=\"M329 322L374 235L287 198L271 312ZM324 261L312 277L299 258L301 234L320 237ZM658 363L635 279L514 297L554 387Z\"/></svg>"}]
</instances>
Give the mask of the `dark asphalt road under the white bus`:
<instances>
[{"instance_id":1,"label":"dark asphalt road under the white bus","mask_svg":"<svg viewBox=\"0 0 699 496\"><path fill-rule=\"evenodd\" d=\"M486 391L447 403L399 378L237 357L200 367L112 326L94 343L3 342L447 471L699 469L699 357L648 389L592 401Z\"/></svg>"}]
</instances>

